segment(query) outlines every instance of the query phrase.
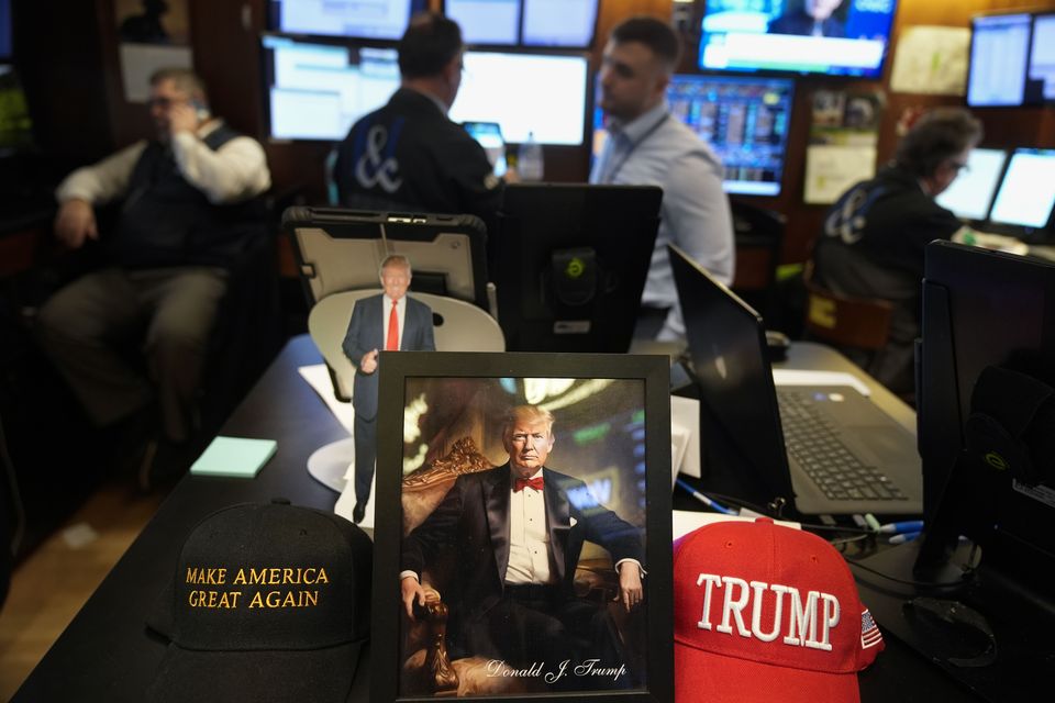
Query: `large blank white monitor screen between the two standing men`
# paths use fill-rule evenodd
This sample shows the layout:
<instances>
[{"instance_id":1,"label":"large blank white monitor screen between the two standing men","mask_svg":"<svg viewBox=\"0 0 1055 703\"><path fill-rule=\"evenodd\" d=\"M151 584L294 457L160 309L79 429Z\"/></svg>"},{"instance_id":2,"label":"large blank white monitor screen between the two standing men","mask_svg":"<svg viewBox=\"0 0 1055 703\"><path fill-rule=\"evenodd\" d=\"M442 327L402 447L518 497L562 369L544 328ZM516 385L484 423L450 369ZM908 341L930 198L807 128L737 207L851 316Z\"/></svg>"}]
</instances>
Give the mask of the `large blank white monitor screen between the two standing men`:
<instances>
[{"instance_id":1,"label":"large blank white monitor screen between the two standing men","mask_svg":"<svg viewBox=\"0 0 1055 703\"><path fill-rule=\"evenodd\" d=\"M466 52L455 122L497 122L507 142L578 146L586 125L585 54Z\"/></svg>"}]
</instances>

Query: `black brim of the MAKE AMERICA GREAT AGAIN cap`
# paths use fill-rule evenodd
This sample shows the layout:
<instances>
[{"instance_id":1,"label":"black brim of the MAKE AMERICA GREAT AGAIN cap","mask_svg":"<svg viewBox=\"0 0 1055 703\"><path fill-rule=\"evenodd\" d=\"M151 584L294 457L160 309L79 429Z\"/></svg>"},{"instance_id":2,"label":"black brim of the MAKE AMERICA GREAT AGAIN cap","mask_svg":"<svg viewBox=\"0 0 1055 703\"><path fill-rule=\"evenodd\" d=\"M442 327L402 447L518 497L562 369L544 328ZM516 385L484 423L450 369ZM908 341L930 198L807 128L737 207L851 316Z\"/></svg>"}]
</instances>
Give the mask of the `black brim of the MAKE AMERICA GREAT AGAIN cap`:
<instances>
[{"instance_id":1,"label":"black brim of the MAKE AMERICA GREAT AGAIN cap","mask_svg":"<svg viewBox=\"0 0 1055 703\"><path fill-rule=\"evenodd\" d=\"M198 651L169 645L146 699L154 703L345 703L359 641L306 651Z\"/></svg>"}]
</instances>

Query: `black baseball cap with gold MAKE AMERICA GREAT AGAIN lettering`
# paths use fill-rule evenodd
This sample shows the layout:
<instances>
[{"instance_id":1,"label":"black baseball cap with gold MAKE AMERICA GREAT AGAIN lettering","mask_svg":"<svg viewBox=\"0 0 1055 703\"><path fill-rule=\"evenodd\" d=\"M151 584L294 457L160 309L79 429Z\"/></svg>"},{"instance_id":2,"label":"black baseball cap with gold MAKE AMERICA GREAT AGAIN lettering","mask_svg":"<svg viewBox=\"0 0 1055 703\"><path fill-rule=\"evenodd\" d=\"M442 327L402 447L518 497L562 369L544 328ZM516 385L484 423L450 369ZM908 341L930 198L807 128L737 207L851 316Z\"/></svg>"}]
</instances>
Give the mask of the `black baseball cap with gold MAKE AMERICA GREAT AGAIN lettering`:
<instances>
[{"instance_id":1,"label":"black baseball cap with gold MAKE AMERICA GREAT AGAIN lettering","mask_svg":"<svg viewBox=\"0 0 1055 703\"><path fill-rule=\"evenodd\" d=\"M370 538L336 514L277 502L212 513L151 623L169 646L147 700L348 700L371 565Z\"/></svg>"}]
</instances>

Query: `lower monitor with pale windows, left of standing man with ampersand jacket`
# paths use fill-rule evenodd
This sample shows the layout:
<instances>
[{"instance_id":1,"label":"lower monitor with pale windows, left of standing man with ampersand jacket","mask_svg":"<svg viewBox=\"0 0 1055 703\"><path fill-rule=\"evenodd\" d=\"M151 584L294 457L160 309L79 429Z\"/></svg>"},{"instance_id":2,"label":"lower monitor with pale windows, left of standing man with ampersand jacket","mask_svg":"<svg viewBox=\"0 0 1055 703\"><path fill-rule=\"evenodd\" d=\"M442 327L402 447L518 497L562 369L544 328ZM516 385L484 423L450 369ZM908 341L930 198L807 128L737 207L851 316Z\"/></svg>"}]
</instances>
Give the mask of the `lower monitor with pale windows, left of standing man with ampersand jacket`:
<instances>
[{"instance_id":1,"label":"lower monitor with pale windows, left of standing man with ampersand jacket","mask_svg":"<svg viewBox=\"0 0 1055 703\"><path fill-rule=\"evenodd\" d=\"M265 35L268 134L334 142L399 88L396 49Z\"/></svg>"}]
</instances>

